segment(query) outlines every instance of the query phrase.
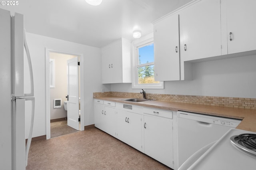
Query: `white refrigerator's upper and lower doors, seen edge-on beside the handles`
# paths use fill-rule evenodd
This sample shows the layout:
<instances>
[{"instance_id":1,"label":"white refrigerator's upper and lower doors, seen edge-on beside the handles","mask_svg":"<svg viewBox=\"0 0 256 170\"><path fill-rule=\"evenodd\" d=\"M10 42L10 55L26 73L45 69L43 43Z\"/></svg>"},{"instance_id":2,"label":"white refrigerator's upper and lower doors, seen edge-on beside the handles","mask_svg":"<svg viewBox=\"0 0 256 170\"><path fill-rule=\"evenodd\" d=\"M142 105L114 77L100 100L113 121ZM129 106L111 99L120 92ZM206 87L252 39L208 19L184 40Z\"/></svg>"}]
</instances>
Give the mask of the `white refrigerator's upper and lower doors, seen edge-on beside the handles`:
<instances>
[{"instance_id":1,"label":"white refrigerator's upper and lower doors, seen edge-on beside the handles","mask_svg":"<svg viewBox=\"0 0 256 170\"><path fill-rule=\"evenodd\" d=\"M11 18L14 169L25 170L25 99L18 98L24 97L24 17L15 13Z\"/></svg>"}]
</instances>

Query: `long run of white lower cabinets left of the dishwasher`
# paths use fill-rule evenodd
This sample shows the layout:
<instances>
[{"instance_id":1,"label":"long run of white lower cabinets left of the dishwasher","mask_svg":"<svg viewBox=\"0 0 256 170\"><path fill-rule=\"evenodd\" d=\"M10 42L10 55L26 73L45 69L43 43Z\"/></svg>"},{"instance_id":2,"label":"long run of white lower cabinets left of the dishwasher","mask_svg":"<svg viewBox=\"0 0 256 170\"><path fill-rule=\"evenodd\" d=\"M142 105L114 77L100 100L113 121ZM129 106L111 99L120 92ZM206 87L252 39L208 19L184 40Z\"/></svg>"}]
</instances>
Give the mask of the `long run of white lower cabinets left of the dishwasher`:
<instances>
[{"instance_id":1,"label":"long run of white lower cabinets left of the dishwasher","mask_svg":"<svg viewBox=\"0 0 256 170\"><path fill-rule=\"evenodd\" d=\"M174 167L172 111L95 100L95 127Z\"/></svg>"}]
</instances>

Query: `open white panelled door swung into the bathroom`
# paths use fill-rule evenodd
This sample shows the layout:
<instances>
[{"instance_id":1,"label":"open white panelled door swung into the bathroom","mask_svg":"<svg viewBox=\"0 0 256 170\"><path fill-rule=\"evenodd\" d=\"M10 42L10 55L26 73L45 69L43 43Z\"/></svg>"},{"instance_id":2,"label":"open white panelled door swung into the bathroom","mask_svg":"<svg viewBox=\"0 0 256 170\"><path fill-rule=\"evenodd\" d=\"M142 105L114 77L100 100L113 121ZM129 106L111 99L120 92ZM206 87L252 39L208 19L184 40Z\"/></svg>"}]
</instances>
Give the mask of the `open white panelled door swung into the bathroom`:
<instances>
[{"instance_id":1,"label":"open white panelled door swung into the bathroom","mask_svg":"<svg viewBox=\"0 0 256 170\"><path fill-rule=\"evenodd\" d=\"M68 75L68 126L79 130L79 89L78 89L78 57L67 61Z\"/></svg>"}]
</instances>

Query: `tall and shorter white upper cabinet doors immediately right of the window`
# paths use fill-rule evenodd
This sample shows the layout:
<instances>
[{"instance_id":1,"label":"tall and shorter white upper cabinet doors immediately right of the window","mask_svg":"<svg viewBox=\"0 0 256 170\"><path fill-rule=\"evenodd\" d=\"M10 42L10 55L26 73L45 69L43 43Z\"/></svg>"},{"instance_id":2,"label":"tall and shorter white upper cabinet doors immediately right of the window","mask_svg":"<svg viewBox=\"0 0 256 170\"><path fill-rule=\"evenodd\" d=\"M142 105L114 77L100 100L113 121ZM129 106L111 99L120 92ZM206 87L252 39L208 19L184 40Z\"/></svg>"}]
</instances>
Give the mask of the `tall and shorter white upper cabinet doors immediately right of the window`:
<instances>
[{"instance_id":1,"label":"tall and shorter white upper cabinet doors immediately right of the window","mask_svg":"<svg viewBox=\"0 0 256 170\"><path fill-rule=\"evenodd\" d=\"M222 55L220 0L196 0L154 24L155 80L190 80L186 61Z\"/></svg>"}]
</instances>

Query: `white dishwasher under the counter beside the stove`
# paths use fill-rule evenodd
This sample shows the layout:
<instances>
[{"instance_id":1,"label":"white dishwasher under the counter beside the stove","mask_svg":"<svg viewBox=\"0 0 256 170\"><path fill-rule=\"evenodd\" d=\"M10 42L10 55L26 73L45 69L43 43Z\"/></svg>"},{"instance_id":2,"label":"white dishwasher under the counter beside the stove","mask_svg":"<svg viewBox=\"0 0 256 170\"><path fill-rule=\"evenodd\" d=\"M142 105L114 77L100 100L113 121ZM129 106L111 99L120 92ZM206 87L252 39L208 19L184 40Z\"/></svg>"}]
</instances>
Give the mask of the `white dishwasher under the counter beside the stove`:
<instances>
[{"instance_id":1,"label":"white dishwasher under the counter beside the stove","mask_svg":"<svg viewBox=\"0 0 256 170\"><path fill-rule=\"evenodd\" d=\"M192 154L218 140L241 120L184 111L177 112L178 167Z\"/></svg>"}]
</instances>

